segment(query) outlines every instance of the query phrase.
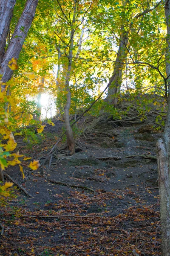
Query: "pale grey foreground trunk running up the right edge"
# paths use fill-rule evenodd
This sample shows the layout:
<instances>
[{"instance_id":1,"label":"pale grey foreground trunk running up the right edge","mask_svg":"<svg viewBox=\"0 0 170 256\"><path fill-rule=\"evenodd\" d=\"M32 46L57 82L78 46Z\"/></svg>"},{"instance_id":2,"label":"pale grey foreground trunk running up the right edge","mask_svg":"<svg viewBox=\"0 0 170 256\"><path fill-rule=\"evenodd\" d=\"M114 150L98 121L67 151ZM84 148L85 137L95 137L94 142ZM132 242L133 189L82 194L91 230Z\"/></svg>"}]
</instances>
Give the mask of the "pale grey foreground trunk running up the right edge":
<instances>
[{"instance_id":1,"label":"pale grey foreground trunk running up the right edge","mask_svg":"<svg viewBox=\"0 0 170 256\"><path fill-rule=\"evenodd\" d=\"M170 58L170 2L165 1L165 17L167 23L167 52L166 59ZM156 143L158 158L158 182L161 210L162 256L170 256L170 61L166 61L168 84L168 111L163 138Z\"/></svg>"}]
</instances>

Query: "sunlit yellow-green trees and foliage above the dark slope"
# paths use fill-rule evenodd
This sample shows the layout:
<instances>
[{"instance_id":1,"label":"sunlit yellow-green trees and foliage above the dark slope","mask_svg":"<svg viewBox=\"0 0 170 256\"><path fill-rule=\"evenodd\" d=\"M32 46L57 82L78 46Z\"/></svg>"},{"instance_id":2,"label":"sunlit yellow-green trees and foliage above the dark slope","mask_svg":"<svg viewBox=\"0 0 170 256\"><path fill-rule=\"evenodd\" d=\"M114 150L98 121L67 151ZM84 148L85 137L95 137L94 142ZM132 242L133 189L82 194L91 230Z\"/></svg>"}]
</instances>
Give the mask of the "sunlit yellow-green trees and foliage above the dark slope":
<instances>
[{"instance_id":1,"label":"sunlit yellow-green trees and foliage above the dark slope","mask_svg":"<svg viewBox=\"0 0 170 256\"><path fill-rule=\"evenodd\" d=\"M0 1L0 19L6 21L0 34L0 133L7 140L1 145L2 180L3 170L19 163L19 156L10 154L17 146L11 132L35 125L41 134L42 116L52 118L55 110L65 121L70 155L82 132L74 123L87 110L95 117L125 119L136 104L142 122L156 105L153 128L164 130L170 101L169 5L168 0ZM164 256L170 251L169 119L168 114L157 145ZM24 133L37 143L34 131Z\"/></svg>"}]
</instances>

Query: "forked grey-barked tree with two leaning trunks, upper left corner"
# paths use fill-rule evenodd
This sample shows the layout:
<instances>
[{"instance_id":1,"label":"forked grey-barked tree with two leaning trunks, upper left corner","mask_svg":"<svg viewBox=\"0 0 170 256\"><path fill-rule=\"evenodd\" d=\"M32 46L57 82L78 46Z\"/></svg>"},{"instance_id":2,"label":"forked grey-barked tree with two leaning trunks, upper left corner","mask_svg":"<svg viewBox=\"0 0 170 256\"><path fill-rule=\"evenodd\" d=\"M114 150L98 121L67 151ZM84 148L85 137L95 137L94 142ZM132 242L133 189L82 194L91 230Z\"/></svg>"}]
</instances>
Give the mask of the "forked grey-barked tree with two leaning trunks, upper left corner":
<instances>
[{"instance_id":1,"label":"forked grey-barked tree with two leaning trunks, upper left corner","mask_svg":"<svg viewBox=\"0 0 170 256\"><path fill-rule=\"evenodd\" d=\"M0 9L3 10L0 13L0 20L3 21L0 23L0 74L2 75L1 81L3 82L3 88L6 87L6 82L11 79L14 70L8 67L8 63L12 58L18 59L20 55L28 30L34 19L38 0L26 1L23 13L18 20L8 48L5 51L9 25L15 3L16 1L14 0L0 1Z\"/></svg>"}]
</instances>

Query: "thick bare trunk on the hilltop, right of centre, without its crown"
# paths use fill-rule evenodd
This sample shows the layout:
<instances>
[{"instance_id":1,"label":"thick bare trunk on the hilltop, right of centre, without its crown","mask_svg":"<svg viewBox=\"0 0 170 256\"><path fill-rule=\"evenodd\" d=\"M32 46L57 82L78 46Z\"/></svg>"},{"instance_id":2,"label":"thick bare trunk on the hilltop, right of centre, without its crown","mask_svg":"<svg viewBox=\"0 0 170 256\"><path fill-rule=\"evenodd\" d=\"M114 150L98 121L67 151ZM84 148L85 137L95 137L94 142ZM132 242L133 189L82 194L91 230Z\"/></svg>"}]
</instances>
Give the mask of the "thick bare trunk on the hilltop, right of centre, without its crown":
<instances>
[{"instance_id":1,"label":"thick bare trunk on the hilltop, right of centre, without its crown","mask_svg":"<svg viewBox=\"0 0 170 256\"><path fill-rule=\"evenodd\" d=\"M116 93L120 92L120 87L122 84L122 72L124 68L124 62L127 57L127 42L128 42L128 35L129 31L126 31L124 27L121 28L121 38L119 41L119 50L116 56L116 61L114 64L114 70L113 74L110 78L111 85L108 88L108 102L110 104L113 104L115 107L117 107L117 102L118 102L118 96Z\"/></svg>"}]
</instances>

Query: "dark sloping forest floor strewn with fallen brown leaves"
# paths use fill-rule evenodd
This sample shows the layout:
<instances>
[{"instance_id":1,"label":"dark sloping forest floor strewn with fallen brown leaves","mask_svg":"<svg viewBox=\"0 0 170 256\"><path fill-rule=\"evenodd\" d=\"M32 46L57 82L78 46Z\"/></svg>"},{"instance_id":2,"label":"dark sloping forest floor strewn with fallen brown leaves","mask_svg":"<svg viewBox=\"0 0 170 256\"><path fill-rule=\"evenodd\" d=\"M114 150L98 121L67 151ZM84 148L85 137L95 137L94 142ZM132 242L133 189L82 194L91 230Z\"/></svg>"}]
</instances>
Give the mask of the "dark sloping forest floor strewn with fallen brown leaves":
<instances>
[{"instance_id":1,"label":"dark sloping forest floor strewn with fallen brown leaves","mask_svg":"<svg viewBox=\"0 0 170 256\"><path fill-rule=\"evenodd\" d=\"M32 149L18 140L20 152L38 159L52 147L62 127L58 119L53 122ZM16 187L1 207L0 256L161 255L154 157L162 134L146 124L116 125L107 140L107 129L103 123L103 134L80 137L82 151L68 159L57 165L53 160L50 167L47 162L46 177L41 169L28 169L23 181L19 167L7 169L32 197Z\"/></svg>"}]
</instances>

